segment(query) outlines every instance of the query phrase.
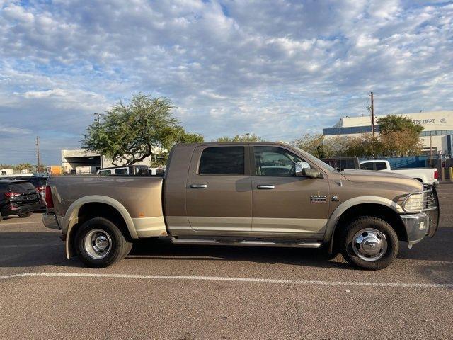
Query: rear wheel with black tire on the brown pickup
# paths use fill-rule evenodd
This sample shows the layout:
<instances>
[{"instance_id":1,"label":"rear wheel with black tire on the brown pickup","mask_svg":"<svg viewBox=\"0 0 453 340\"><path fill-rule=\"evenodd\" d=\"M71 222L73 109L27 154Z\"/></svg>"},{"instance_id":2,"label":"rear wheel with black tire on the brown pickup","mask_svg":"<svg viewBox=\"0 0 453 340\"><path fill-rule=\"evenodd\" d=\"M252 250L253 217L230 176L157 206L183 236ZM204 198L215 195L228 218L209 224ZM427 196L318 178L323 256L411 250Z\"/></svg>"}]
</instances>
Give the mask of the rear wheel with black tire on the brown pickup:
<instances>
[{"instance_id":1,"label":"rear wheel with black tire on the brown pickup","mask_svg":"<svg viewBox=\"0 0 453 340\"><path fill-rule=\"evenodd\" d=\"M98 230L98 232L95 232L96 230ZM96 242L89 242L88 234L90 233L92 233L93 236L99 234L100 236L109 237L109 250L104 251L104 254L97 254L96 251L93 250L95 249L93 244ZM88 244L93 245L93 249L91 249L90 246L86 246L86 237ZM77 251L79 259L86 266L91 268L105 268L111 266L113 263L120 261L120 259L125 257L129 253L131 246L132 244L126 241L124 235L115 223L103 217L93 217L84 222L77 230L76 237L74 238L74 248ZM93 257L93 253L103 257L95 258Z\"/></svg>"}]
</instances>

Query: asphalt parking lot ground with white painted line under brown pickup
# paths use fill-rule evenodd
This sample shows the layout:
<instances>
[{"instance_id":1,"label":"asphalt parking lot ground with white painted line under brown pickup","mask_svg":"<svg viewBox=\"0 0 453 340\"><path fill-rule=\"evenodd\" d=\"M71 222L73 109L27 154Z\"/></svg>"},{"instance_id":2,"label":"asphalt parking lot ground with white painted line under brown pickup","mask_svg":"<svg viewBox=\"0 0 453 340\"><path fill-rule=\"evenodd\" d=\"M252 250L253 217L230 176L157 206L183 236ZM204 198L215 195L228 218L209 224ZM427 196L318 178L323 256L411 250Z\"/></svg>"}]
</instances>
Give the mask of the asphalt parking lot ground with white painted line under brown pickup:
<instances>
[{"instance_id":1,"label":"asphalt parking lot ground with white painted line under brown pickup","mask_svg":"<svg viewBox=\"0 0 453 340\"><path fill-rule=\"evenodd\" d=\"M1 339L452 339L453 185L435 238L383 271L319 251L142 242L115 266L64 257L40 214L0 222Z\"/></svg>"}]
</instances>

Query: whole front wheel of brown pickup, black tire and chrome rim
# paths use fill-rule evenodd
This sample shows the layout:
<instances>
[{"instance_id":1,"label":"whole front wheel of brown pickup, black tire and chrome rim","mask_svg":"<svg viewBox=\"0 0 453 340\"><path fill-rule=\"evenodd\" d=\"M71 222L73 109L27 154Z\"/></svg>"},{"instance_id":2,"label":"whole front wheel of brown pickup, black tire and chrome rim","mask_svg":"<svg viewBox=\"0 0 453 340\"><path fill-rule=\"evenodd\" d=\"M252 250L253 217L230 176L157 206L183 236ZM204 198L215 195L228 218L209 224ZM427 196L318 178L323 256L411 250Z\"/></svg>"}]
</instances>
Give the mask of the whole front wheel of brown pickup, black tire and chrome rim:
<instances>
[{"instance_id":1,"label":"whole front wheel of brown pickup, black tire and chrome rim","mask_svg":"<svg viewBox=\"0 0 453 340\"><path fill-rule=\"evenodd\" d=\"M363 216L350 222L340 240L343 257L363 269L379 270L389 266L398 254L398 236L384 220Z\"/></svg>"}]
</instances>

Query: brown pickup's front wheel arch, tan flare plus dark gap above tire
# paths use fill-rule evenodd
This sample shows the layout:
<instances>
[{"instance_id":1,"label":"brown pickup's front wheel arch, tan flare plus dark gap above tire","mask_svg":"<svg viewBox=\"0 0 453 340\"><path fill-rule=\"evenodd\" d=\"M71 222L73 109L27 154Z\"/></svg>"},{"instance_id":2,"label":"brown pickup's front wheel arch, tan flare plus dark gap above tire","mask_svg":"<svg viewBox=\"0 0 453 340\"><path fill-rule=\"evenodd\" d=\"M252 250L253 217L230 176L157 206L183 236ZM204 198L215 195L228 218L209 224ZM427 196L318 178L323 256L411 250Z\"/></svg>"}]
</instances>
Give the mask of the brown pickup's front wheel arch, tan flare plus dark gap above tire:
<instances>
[{"instance_id":1,"label":"brown pickup's front wheel arch, tan flare plus dark gap above tire","mask_svg":"<svg viewBox=\"0 0 453 340\"><path fill-rule=\"evenodd\" d=\"M344 223L360 216L373 216L386 220L394 228L398 239L407 241L408 235L406 228L403 225L401 217L399 217L399 214L402 212L403 210L400 205L388 198L379 196L362 196L345 201L333 211L326 226L324 242L328 245L329 253L332 254L333 252L338 228Z\"/></svg>"}]
</instances>

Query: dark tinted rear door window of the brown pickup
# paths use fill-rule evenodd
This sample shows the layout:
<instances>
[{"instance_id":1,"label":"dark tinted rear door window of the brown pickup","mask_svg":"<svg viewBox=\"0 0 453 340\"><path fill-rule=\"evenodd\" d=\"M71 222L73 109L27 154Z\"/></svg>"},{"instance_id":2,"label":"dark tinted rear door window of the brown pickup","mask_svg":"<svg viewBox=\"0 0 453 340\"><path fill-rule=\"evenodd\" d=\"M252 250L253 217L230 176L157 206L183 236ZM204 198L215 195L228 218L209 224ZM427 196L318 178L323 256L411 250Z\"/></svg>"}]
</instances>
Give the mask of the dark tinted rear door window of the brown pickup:
<instances>
[{"instance_id":1,"label":"dark tinted rear door window of the brown pickup","mask_svg":"<svg viewBox=\"0 0 453 340\"><path fill-rule=\"evenodd\" d=\"M198 166L200 175L243 175L244 147L207 147Z\"/></svg>"}]
</instances>

